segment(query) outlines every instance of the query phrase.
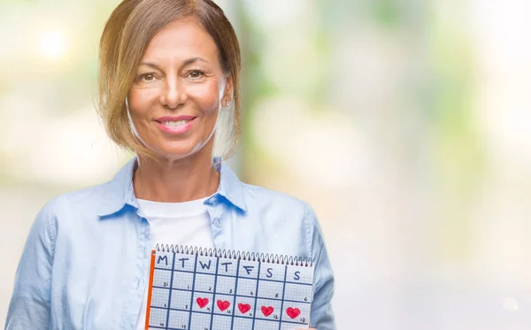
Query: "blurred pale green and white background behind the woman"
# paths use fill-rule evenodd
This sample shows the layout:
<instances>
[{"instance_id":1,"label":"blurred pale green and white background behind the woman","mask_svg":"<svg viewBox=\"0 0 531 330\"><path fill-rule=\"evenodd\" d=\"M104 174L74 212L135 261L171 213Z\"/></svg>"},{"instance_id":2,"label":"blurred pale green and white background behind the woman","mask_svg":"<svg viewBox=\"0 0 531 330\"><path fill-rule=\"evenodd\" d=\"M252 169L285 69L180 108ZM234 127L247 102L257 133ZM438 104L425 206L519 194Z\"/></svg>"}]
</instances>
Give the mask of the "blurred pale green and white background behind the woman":
<instances>
[{"instance_id":1,"label":"blurred pale green and white background behind the woman","mask_svg":"<svg viewBox=\"0 0 531 330\"><path fill-rule=\"evenodd\" d=\"M131 155L94 110L116 0L0 0L0 326L36 212ZM242 180L312 204L339 329L531 326L531 3L225 0Z\"/></svg>"}]
</instances>

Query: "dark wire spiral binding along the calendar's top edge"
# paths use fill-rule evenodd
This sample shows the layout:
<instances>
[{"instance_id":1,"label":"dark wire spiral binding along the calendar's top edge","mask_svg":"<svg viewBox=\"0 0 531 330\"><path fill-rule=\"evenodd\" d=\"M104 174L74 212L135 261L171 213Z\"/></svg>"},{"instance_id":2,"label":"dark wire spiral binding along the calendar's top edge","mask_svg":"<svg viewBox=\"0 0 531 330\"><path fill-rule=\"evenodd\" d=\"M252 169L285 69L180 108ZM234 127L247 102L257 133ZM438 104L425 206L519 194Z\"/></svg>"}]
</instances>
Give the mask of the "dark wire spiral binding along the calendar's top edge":
<instances>
[{"instance_id":1,"label":"dark wire spiral binding along the calendar's top edge","mask_svg":"<svg viewBox=\"0 0 531 330\"><path fill-rule=\"evenodd\" d=\"M290 257L285 255L244 252L233 249L199 248L173 244L157 244L155 249L160 252L172 252L205 257L224 257L228 259L258 261L261 263L278 265L313 267L313 260L311 257Z\"/></svg>"}]
</instances>

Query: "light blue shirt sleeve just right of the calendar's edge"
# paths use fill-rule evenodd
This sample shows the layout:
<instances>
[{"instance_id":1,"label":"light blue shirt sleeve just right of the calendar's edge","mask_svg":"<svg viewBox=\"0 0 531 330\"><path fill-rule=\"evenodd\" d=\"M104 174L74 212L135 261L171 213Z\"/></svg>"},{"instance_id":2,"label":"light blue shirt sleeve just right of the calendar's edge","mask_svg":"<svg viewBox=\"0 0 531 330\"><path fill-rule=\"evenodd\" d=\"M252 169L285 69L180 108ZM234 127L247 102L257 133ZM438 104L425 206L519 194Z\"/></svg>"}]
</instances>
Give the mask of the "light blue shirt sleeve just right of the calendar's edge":
<instances>
[{"instance_id":1,"label":"light blue shirt sleeve just right of the calendar's edge","mask_svg":"<svg viewBox=\"0 0 531 330\"><path fill-rule=\"evenodd\" d=\"M313 301L310 316L310 327L318 330L335 330L335 318L332 311L334 295L334 272L328 259L327 249L319 222L312 208L308 206L306 217L312 231L313 259Z\"/></svg>"}]
</instances>

